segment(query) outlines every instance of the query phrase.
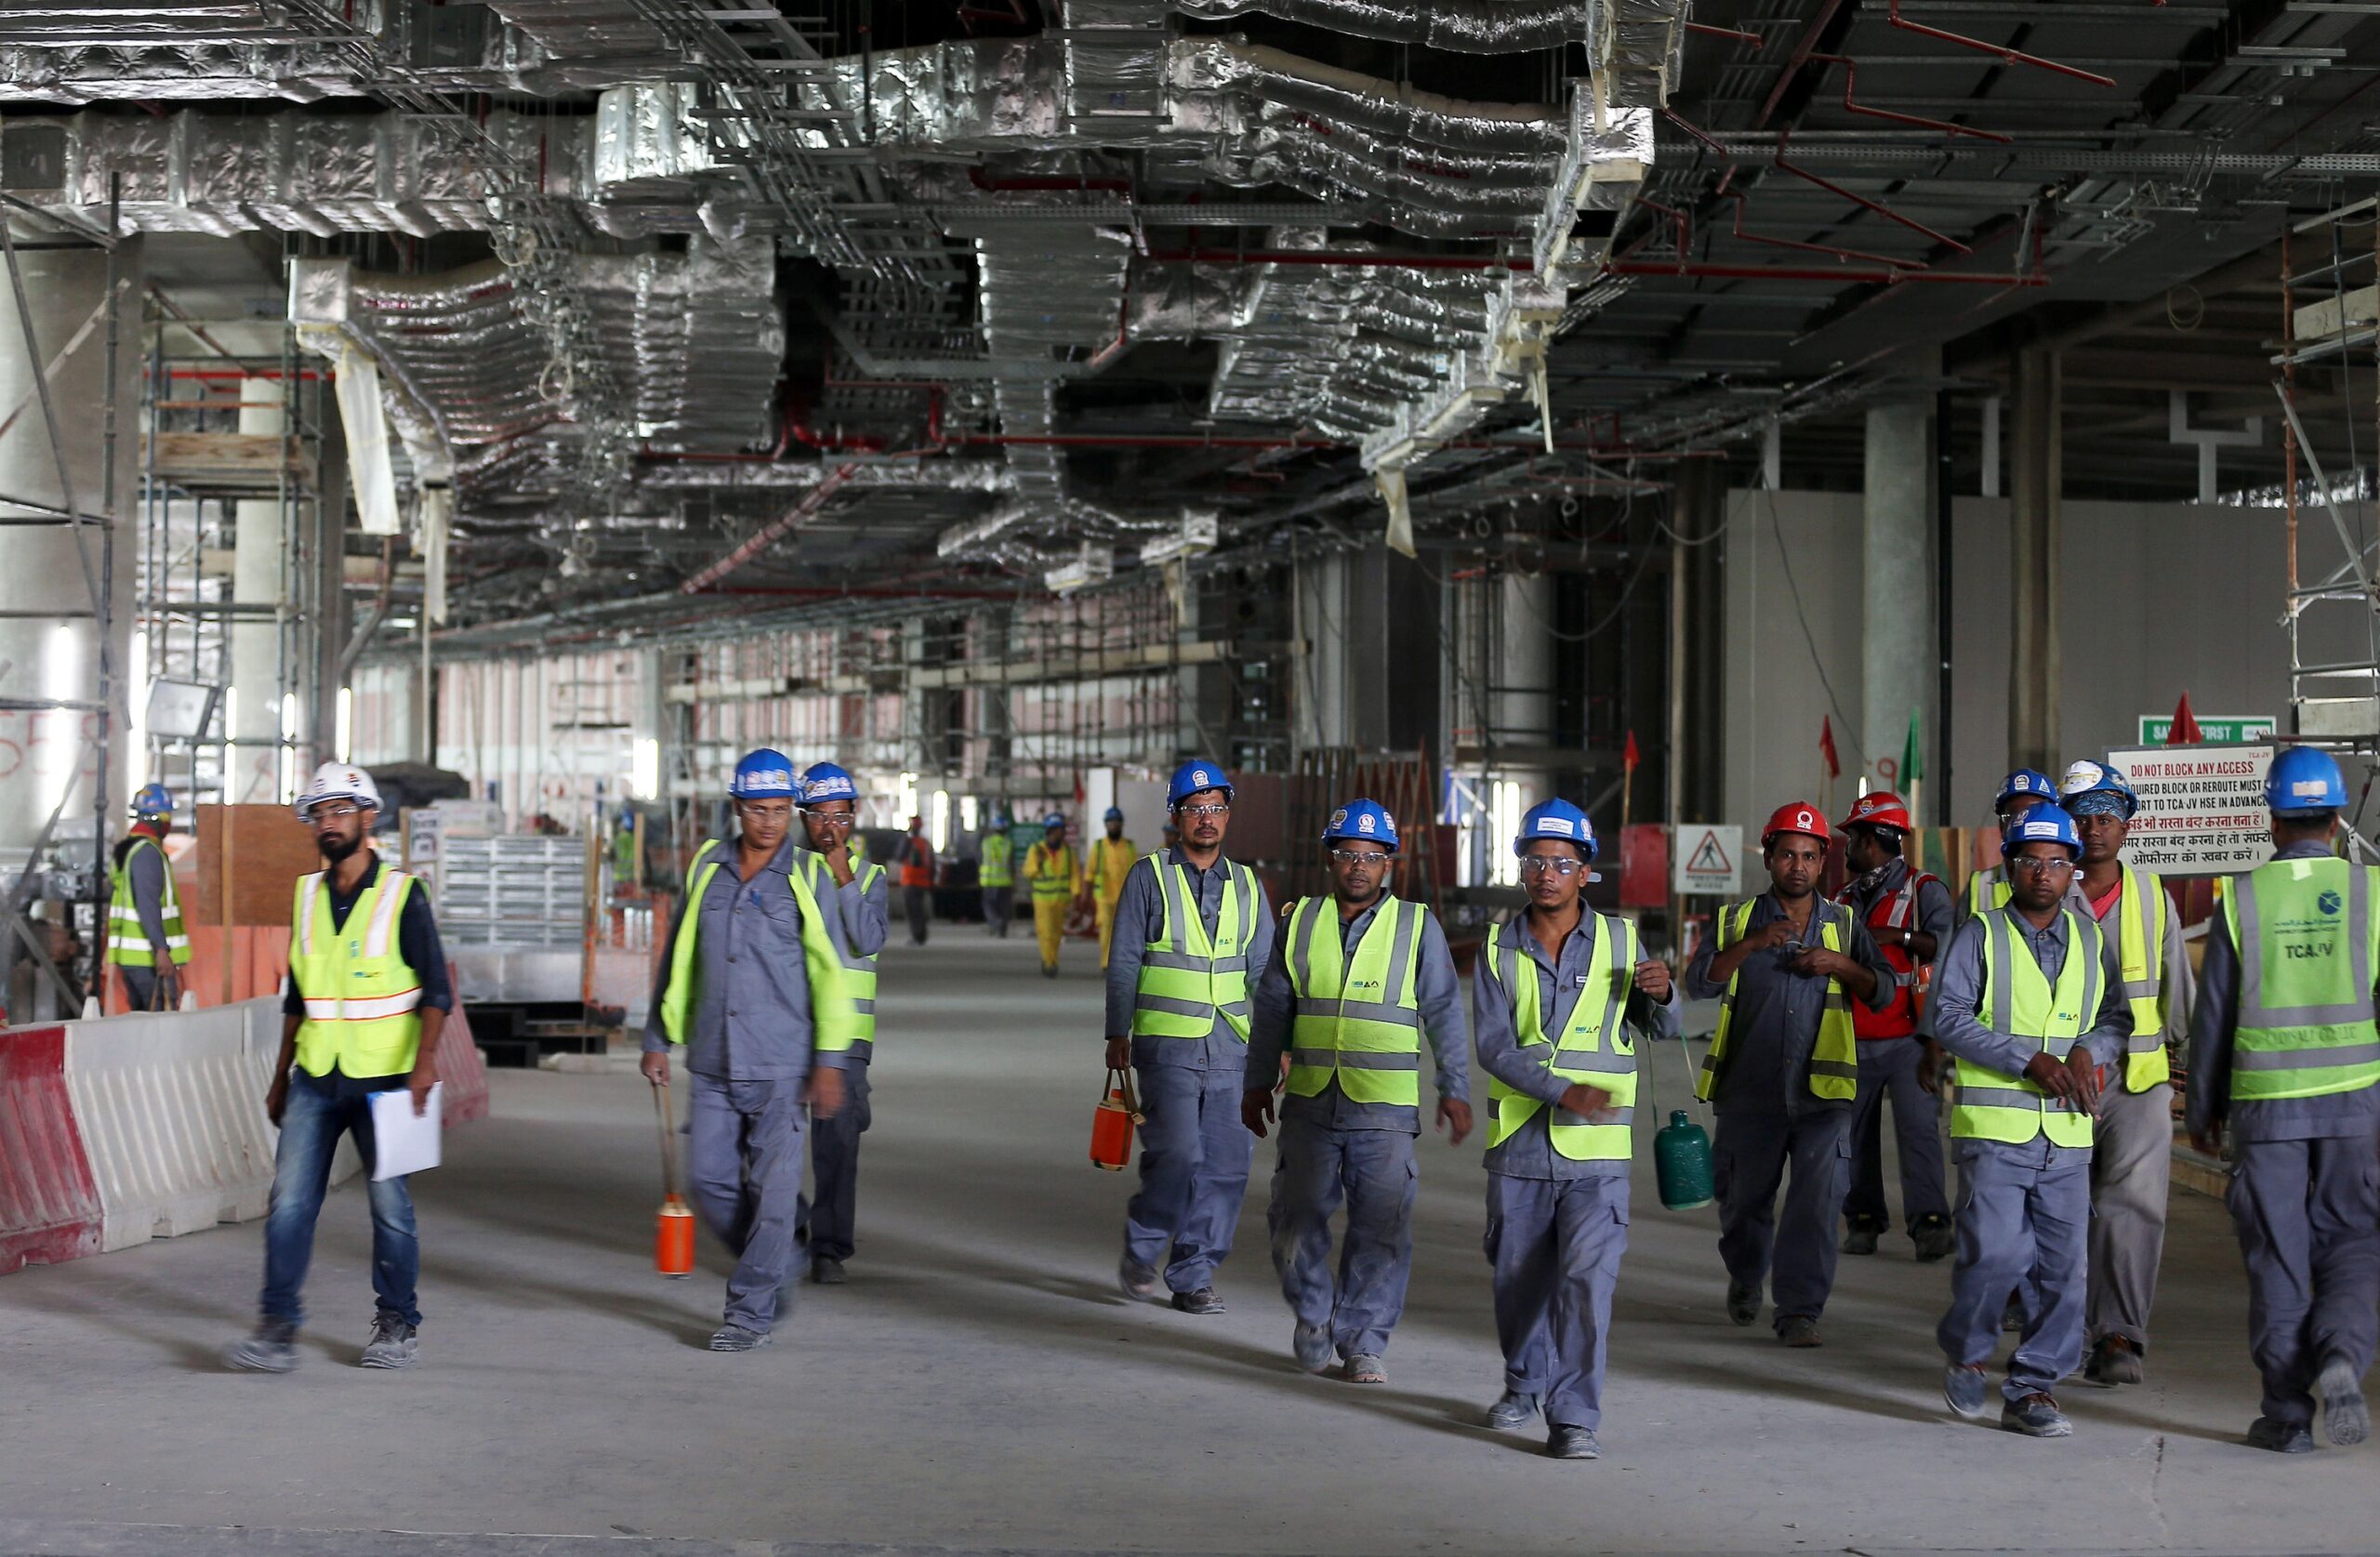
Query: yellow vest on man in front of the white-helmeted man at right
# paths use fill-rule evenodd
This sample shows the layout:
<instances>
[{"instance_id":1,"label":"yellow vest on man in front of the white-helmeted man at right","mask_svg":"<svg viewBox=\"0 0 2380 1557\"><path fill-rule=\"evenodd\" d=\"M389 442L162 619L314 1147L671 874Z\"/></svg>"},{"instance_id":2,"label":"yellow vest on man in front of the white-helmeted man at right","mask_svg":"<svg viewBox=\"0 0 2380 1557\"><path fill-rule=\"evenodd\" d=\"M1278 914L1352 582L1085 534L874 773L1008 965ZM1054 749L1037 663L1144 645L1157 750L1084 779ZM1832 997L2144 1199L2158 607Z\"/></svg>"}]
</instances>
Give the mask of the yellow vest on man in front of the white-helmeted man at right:
<instances>
[{"instance_id":1,"label":"yellow vest on man in front of the white-helmeted man at right","mask_svg":"<svg viewBox=\"0 0 2380 1557\"><path fill-rule=\"evenodd\" d=\"M1983 912L1983 993L1975 1019L1994 1033L2025 1038L2042 1052L2066 1062L2075 1040L2099 1019L2099 978L2106 943L2087 914L2068 907L2066 964L2056 988L2025 945L2030 926L2018 926L2013 909ZM2090 1145L2090 1109L2052 1098L2033 1076L2009 1076L1973 1059L1959 1059L1959 1102L1949 1114L1952 1140L2006 1140L2023 1145L2040 1133L2052 1145Z\"/></svg>"}]
</instances>

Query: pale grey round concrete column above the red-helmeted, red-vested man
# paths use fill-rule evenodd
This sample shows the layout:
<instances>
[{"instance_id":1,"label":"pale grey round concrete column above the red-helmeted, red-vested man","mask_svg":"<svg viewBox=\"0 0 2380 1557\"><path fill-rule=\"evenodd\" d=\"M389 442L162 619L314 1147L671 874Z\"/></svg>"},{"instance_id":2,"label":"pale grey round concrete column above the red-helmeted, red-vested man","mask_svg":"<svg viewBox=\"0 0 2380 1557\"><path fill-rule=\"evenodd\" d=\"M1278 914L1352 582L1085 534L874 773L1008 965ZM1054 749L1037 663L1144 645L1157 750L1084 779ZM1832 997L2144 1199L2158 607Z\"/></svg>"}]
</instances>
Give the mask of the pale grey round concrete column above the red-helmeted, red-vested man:
<instances>
[{"instance_id":1,"label":"pale grey round concrete column above the red-helmeted, red-vested man","mask_svg":"<svg viewBox=\"0 0 2380 1557\"><path fill-rule=\"evenodd\" d=\"M1906 783L1909 712L1918 712L1925 740L1935 729L1933 436L1930 398L1868 407L1859 740L1875 788Z\"/></svg>"}]
</instances>

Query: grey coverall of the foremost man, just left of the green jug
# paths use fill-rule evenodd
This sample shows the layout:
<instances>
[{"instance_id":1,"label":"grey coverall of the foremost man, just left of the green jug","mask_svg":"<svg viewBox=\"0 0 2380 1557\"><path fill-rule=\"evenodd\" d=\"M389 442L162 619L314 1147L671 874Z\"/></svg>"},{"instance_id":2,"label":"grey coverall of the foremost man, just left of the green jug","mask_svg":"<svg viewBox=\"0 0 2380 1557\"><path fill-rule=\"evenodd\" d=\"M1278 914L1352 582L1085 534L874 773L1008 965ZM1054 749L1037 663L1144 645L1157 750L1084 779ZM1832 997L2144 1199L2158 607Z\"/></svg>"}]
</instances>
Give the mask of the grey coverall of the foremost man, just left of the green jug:
<instances>
[{"instance_id":1,"label":"grey coverall of the foremost man, just left of the green jug","mask_svg":"<svg viewBox=\"0 0 2380 1557\"><path fill-rule=\"evenodd\" d=\"M1571 1083L1545 1067L1549 1045L1521 1048L1511 990L1497 981L1492 955L1497 945L1511 945L1537 964L1537 1028L1557 1036L1592 978L1597 933L1597 917L1580 912L1578 928L1561 940L1561 957L1554 959L1521 914L1497 926L1471 981L1471 1038L1480 1069L1549 1105L1502 1145L1488 1148L1485 1250L1495 1269L1504 1388L1537 1397L1547 1426L1583 1428L1604 1417L1611 1288L1628 1250L1628 1162L1576 1162L1554 1150L1552 1126ZM1623 1021L1645 1038L1676 1038L1678 990L1671 988L1666 1005L1654 1005L1630 986ZM1561 1124L1590 1121L1561 1114ZM1490 1128L1490 1121L1480 1126Z\"/></svg>"}]
</instances>

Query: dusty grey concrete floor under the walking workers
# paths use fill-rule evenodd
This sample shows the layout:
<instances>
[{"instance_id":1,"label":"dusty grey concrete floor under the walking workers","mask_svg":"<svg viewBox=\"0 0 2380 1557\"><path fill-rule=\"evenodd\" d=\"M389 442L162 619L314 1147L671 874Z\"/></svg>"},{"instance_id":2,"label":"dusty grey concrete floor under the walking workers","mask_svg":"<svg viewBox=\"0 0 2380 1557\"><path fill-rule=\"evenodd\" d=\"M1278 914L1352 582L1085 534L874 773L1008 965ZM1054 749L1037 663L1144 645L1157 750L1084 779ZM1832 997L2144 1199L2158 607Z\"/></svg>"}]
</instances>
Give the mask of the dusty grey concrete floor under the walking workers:
<instances>
[{"instance_id":1,"label":"dusty grey concrete floor under the walking workers","mask_svg":"<svg viewBox=\"0 0 2380 1557\"><path fill-rule=\"evenodd\" d=\"M2280 1459L2213 1200L2178 1195L2152 1383L2063 1395L2044 1445L1952 1419L1944 1267L1847 1259L1828 1345L1721 1314L1711 1212L1640 1174L1604 1459L1473 1426L1499 1381L1478 1143L1423 1145L1392 1383L1302 1376L1264 1255L1271 1152L1223 1269L1230 1314L1114 1290L1128 1176L1083 1159L1100 986L1069 945L940 926L883 974L852 1283L774 1350L714 1357L704 1274L650 1271L654 1128L633 1076L495 1074L495 1119L416 1181L424 1364L347 1367L367 1224L324 1212L288 1378L226 1374L259 1228L0 1281L0 1552L1792 1552L2373 1550L2373 1447ZM1656 1081L1673 1098L1676 1052ZM1640 1164L1645 1152L1640 1150ZM148 1528L131 1528L148 1526ZM226 1533L245 1526L245 1533ZM338 1536L333 1536L338 1533ZM750 1543L750 1545L716 1545Z\"/></svg>"}]
</instances>

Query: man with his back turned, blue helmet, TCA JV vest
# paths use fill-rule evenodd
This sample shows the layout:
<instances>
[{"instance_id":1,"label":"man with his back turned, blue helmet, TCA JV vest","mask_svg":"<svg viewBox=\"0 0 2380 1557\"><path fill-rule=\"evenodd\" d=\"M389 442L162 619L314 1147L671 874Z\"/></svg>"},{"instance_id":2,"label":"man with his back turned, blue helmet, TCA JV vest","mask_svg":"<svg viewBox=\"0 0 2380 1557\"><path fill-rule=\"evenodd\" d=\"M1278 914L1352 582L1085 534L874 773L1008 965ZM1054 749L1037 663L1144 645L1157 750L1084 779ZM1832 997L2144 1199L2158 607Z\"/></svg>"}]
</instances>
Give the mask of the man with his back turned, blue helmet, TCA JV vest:
<instances>
[{"instance_id":1,"label":"man with his back turned, blue helmet, TCA JV vest","mask_svg":"<svg viewBox=\"0 0 2380 1557\"><path fill-rule=\"evenodd\" d=\"M2190 1024L2190 1140L2218 1155L2247 1262L2247 1336L2263 1374L2259 1450L2370 1431L2363 1371L2380 1305L2380 871L2337 857L2347 781L2309 745L2263 781L2275 855L2232 881L2206 926Z\"/></svg>"}]
</instances>

